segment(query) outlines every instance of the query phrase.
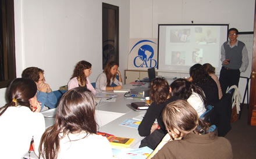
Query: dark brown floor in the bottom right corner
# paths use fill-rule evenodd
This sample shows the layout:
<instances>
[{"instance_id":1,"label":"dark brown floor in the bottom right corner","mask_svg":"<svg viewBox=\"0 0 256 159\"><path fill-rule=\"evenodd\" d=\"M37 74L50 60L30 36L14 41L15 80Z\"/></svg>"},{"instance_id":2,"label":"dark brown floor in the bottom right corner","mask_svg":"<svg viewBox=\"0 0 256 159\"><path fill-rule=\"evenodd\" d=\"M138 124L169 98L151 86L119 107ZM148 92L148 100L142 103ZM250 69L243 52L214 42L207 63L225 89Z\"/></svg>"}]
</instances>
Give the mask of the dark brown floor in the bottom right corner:
<instances>
[{"instance_id":1,"label":"dark brown floor in the bottom right corner","mask_svg":"<svg viewBox=\"0 0 256 159\"><path fill-rule=\"evenodd\" d=\"M243 108L241 119L232 123L225 138L232 144L233 158L256 158L256 126L247 125L248 109Z\"/></svg>"}]
</instances>

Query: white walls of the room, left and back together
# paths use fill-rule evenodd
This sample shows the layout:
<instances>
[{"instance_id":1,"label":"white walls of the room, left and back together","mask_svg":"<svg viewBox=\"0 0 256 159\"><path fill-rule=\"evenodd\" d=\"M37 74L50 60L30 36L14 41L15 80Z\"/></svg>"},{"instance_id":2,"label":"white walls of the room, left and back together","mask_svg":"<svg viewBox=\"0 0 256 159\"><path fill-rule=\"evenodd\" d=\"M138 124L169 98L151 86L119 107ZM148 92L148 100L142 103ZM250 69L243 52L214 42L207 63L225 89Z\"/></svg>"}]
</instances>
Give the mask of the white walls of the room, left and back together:
<instances>
[{"instance_id":1,"label":"white walls of the room, left and back together","mask_svg":"<svg viewBox=\"0 0 256 159\"><path fill-rule=\"evenodd\" d=\"M90 80L95 81L102 71L102 2L119 6L122 74L127 68L129 39L157 38L158 24L193 20L230 24L239 31L253 31L254 26L254 0L15 0L17 77L26 67L40 67L56 90L67 84L77 62L88 60L93 64ZM240 81L244 90L244 80ZM5 103L3 88L0 105Z\"/></svg>"}]
</instances>

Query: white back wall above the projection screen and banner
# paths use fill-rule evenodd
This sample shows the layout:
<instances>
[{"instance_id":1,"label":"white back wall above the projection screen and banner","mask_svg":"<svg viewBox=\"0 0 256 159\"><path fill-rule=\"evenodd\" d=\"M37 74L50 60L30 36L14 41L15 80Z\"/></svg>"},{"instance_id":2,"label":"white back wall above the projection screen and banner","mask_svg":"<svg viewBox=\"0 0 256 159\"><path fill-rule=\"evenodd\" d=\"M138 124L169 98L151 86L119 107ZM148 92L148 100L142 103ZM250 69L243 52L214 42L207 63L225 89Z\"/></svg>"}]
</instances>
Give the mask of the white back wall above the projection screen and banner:
<instances>
[{"instance_id":1,"label":"white back wall above the projection screen and banner","mask_svg":"<svg viewBox=\"0 0 256 159\"><path fill-rule=\"evenodd\" d=\"M253 31L254 6L254 0L130 0L130 38L158 38L158 24L191 24L191 21L229 24L239 31ZM246 79L240 78L242 97L245 88Z\"/></svg>"}]
</instances>

